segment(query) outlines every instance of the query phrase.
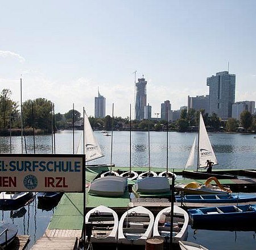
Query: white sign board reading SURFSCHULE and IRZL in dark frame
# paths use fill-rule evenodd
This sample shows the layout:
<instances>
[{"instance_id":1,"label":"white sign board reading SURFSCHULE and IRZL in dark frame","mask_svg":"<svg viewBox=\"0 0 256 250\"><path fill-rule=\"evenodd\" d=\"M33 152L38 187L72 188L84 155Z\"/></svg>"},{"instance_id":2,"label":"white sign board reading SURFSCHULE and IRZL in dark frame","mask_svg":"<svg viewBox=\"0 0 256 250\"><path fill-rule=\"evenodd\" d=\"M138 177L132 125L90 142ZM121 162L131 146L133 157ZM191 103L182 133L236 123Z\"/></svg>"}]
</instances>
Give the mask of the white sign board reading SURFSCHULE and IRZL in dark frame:
<instances>
[{"instance_id":1,"label":"white sign board reading SURFSCHULE and IRZL in dark frame","mask_svg":"<svg viewBox=\"0 0 256 250\"><path fill-rule=\"evenodd\" d=\"M0 191L82 192L85 155L0 154Z\"/></svg>"}]
</instances>

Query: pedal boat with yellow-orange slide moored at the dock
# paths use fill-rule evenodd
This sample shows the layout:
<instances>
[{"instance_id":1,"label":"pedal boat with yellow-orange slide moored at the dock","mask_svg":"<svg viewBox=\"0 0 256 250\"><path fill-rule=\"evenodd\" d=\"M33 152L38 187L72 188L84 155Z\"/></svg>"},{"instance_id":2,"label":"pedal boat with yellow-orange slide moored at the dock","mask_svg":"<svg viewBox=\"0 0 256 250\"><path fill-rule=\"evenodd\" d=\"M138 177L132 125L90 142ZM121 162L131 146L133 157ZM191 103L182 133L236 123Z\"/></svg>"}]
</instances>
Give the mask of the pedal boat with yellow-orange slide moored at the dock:
<instances>
[{"instance_id":1,"label":"pedal boat with yellow-orange slide moored at the dock","mask_svg":"<svg viewBox=\"0 0 256 250\"><path fill-rule=\"evenodd\" d=\"M210 184L211 181L215 181L217 186ZM217 178L210 177L205 181L205 184L200 185L197 182L190 182L189 184L176 184L174 188L177 191L183 191L185 194L229 194L232 191L228 187L224 187L220 184Z\"/></svg>"}]
</instances>

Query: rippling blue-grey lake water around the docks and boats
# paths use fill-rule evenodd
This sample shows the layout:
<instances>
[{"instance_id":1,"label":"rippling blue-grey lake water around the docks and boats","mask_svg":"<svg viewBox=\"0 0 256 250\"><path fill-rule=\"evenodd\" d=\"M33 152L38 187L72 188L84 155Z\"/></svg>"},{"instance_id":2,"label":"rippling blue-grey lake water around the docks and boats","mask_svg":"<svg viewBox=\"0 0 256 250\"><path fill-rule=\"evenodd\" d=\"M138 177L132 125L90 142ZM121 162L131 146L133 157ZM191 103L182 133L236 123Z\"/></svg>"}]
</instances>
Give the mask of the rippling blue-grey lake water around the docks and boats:
<instances>
[{"instance_id":1,"label":"rippling blue-grey lake water around the docks and boats","mask_svg":"<svg viewBox=\"0 0 256 250\"><path fill-rule=\"evenodd\" d=\"M94 134L104 152L105 157L92 161L92 164L110 164L111 136L103 136L100 131ZM166 132L150 132L150 166L166 166ZM187 162L190 149L196 133L168 133L168 166L183 169ZM219 165L214 168L256 169L256 139L254 135L245 134L211 134L209 139ZM82 132L75 131L75 152L82 153L79 145ZM131 163L133 166L148 166L148 133L132 132ZM24 143L24 140L23 140ZM60 131L55 135L56 153L73 153L73 131ZM33 137L26 137L27 153L34 153ZM78 150L77 150L78 148ZM52 136L35 136L36 153L52 153ZM0 137L0 152L10 153L10 138ZM11 138L11 152L21 153L20 136ZM25 153L23 147L23 153ZM113 160L115 166L129 166L129 132L113 132ZM25 211L25 210L26 211ZM2 220L14 222L19 226L20 235L30 235L31 242L28 249L43 235L54 212L38 209L38 201L24 207L18 217L13 218L12 211L1 211ZM209 249L256 249L255 232L230 232L192 230L189 227L188 241L195 241Z\"/></svg>"}]
</instances>

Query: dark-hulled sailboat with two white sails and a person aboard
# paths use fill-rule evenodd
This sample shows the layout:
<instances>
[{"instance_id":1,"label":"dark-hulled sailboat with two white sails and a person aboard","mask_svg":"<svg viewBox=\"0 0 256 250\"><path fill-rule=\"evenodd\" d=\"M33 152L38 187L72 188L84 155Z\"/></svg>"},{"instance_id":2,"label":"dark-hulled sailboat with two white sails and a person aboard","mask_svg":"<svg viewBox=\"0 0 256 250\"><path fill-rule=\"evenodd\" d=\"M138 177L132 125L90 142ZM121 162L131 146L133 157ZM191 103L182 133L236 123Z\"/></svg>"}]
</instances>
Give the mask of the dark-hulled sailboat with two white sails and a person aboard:
<instances>
[{"instance_id":1,"label":"dark-hulled sailboat with two white sails and a person aboard","mask_svg":"<svg viewBox=\"0 0 256 250\"><path fill-rule=\"evenodd\" d=\"M185 169L183 170L183 176L196 177L197 179L198 178L205 179L209 177L216 177L218 179L237 178L237 176L232 176L231 174L214 174L214 173L207 173L205 171L203 172L199 170L200 168L207 167L207 160L211 161L213 165L218 164L212 145L210 144L210 140L207 134L207 130L205 128L204 119L201 112L199 115L199 133L198 133L198 141L197 141L196 170L193 170L193 171L186 170L188 166L194 166L195 152L196 152L196 138L192 145L187 164L185 165Z\"/></svg>"}]
</instances>

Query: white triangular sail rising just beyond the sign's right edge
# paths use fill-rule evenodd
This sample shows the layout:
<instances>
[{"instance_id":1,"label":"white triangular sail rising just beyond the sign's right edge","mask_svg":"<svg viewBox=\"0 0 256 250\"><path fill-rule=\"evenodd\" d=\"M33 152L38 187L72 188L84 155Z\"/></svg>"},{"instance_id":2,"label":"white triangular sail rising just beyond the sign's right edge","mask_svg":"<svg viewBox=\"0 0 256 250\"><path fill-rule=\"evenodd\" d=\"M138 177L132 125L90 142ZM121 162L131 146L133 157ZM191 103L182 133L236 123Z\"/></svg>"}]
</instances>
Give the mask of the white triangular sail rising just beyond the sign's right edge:
<instances>
[{"instance_id":1,"label":"white triangular sail rising just beyond the sign's right edge","mask_svg":"<svg viewBox=\"0 0 256 250\"><path fill-rule=\"evenodd\" d=\"M84 147L85 147L85 161L92 161L98 159L103 155L100 145L94 137L92 127L86 112L84 111Z\"/></svg>"}]
</instances>

